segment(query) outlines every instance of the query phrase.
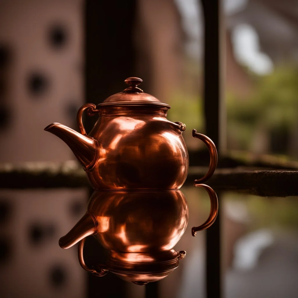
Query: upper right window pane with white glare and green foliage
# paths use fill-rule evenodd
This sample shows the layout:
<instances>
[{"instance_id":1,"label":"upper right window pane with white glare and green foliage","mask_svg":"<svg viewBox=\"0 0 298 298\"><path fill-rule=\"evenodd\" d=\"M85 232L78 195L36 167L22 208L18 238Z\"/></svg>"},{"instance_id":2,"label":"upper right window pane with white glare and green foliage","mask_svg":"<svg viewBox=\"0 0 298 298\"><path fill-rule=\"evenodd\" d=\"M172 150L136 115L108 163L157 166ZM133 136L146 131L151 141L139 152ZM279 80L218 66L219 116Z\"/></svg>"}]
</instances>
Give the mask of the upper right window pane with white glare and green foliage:
<instances>
[{"instance_id":1,"label":"upper right window pane with white glare and green foliage","mask_svg":"<svg viewBox=\"0 0 298 298\"><path fill-rule=\"evenodd\" d=\"M228 149L297 158L298 4L225 3Z\"/></svg>"}]
</instances>

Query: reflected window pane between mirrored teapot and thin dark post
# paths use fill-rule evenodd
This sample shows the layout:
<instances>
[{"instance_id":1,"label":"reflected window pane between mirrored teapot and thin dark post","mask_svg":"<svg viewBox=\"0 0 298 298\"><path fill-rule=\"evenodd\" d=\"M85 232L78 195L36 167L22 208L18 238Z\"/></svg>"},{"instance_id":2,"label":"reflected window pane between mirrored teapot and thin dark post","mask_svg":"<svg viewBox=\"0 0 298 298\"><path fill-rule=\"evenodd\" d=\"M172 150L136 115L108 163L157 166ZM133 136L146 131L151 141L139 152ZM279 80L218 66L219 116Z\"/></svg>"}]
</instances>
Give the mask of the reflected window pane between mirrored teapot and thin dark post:
<instances>
[{"instance_id":1,"label":"reflected window pane between mirrored teapot and thin dark post","mask_svg":"<svg viewBox=\"0 0 298 298\"><path fill-rule=\"evenodd\" d=\"M179 267L159 283L160 297L184 298L206 297L206 232L197 232L193 237L191 228L202 224L210 212L208 194L193 186L181 188L189 207L189 222L184 235L174 247L176 251L185 250L186 256L179 261Z\"/></svg>"}]
</instances>

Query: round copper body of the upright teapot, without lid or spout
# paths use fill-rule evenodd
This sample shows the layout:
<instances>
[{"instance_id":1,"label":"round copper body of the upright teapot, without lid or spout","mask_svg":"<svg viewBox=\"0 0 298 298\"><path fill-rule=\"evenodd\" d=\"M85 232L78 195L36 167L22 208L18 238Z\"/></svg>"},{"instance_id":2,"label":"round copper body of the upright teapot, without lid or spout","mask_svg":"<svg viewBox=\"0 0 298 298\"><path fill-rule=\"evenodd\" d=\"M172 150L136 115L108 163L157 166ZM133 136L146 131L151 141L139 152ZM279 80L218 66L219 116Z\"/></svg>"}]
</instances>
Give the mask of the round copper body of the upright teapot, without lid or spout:
<instances>
[{"instance_id":1,"label":"round copper body of the upright teapot, without lid or spout","mask_svg":"<svg viewBox=\"0 0 298 298\"><path fill-rule=\"evenodd\" d=\"M98 143L87 169L96 190L179 189L188 172L188 153L179 125L166 114L99 115L89 136Z\"/></svg>"}]
</instances>

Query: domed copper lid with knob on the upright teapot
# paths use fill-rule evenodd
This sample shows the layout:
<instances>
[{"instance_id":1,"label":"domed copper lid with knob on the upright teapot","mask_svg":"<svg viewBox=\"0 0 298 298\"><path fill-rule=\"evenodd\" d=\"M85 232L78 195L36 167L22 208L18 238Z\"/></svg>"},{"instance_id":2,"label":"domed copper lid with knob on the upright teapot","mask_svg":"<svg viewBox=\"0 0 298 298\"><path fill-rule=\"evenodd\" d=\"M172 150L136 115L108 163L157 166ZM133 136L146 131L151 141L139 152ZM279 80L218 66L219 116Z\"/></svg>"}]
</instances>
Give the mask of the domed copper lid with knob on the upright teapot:
<instances>
[{"instance_id":1,"label":"domed copper lid with knob on the upright teapot","mask_svg":"<svg viewBox=\"0 0 298 298\"><path fill-rule=\"evenodd\" d=\"M160 102L156 97L144 93L142 89L138 87L143 82L138 77L129 77L124 81L129 87L124 89L122 92L109 96L103 103L97 105L97 108L102 106L125 106L125 105L154 105L164 108L170 108L170 105Z\"/></svg>"}]
</instances>

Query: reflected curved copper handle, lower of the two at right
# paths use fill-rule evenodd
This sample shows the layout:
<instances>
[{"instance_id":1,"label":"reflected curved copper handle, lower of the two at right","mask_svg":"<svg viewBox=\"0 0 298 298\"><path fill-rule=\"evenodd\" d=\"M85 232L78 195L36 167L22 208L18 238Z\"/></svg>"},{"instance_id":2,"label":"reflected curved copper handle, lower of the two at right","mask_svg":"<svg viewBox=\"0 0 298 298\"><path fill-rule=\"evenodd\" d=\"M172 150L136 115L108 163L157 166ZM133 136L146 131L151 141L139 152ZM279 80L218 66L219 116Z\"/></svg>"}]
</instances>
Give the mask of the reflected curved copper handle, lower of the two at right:
<instances>
[{"instance_id":1,"label":"reflected curved copper handle, lower of the two at right","mask_svg":"<svg viewBox=\"0 0 298 298\"><path fill-rule=\"evenodd\" d=\"M194 186L203 187L205 190L207 190L209 198L210 198L210 213L209 217L207 218L207 221L204 222L204 224L201 224L201 226L194 226L191 229L191 234L193 236L197 235L196 232L205 230L209 228L214 222L218 214L218 199L215 191L206 184L194 184Z\"/></svg>"}]
</instances>

